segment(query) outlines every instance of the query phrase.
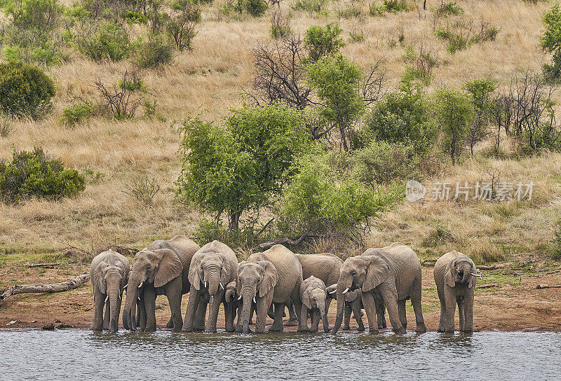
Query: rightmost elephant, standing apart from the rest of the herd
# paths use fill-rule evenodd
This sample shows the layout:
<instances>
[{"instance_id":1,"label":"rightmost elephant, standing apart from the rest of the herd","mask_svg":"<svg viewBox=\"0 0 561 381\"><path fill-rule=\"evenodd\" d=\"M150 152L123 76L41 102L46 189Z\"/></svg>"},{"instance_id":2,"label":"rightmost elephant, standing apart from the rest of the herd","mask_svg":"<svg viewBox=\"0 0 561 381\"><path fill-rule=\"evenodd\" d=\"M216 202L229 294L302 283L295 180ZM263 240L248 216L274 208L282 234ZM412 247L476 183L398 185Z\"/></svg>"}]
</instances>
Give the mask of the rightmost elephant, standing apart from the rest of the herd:
<instances>
[{"instance_id":1,"label":"rightmost elephant, standing apart from the rest of the herd","mask_svg":"<svg viewBox=\"0 0 561 381\"><path fill-rule=\"evenodd\" d=\"M433 273L440 299L438 332L454 333L456 304L460 331L473 332L473 291L480 277L475 263L468 256L453 250L438 258Z\"/></svg>"}]
</instances>

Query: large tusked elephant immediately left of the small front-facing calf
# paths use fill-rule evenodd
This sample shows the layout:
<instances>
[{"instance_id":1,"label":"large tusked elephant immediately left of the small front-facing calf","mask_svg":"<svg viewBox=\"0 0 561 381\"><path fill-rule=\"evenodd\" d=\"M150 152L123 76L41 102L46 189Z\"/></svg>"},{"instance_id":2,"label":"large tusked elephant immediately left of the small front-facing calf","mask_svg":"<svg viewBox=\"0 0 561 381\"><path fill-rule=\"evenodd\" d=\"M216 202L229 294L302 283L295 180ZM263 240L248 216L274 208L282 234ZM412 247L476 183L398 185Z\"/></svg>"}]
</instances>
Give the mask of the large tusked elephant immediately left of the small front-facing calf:
<instances>
[{"instance_id":1,"label":"large tusked elephant immediately left of the small front-facing calf","mask_svg":"<svg viewBox=\"0 0 561 381\"><path fill-rule=\"evenodd\" d=\"M297 313L302 309L300 301L302 265L296 254L281 244L262 253L250 255L238 267L237 292L243 300L242 331L249 331L250 311L255 302L257 321L255 330L265 331L265 318L269 306L274 306L274 321L269 331L283 331L284 303L292 299ZM299 330L304 331L302 317L298 316Z\"/></svg>"}]
</instances>

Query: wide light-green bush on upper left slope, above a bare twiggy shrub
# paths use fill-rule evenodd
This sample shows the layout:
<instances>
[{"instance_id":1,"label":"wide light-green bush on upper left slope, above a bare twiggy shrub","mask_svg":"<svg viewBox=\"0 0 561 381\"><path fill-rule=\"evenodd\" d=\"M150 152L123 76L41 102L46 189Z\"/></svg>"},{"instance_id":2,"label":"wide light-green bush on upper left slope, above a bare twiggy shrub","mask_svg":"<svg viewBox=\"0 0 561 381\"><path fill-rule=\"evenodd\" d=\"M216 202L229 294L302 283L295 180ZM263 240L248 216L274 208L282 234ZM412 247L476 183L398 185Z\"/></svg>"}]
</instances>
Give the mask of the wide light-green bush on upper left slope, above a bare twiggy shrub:
<instances>
[{"instance_id":1,"label":"wide light-green bush on upper left slope, above a bare twiggy shrub","mask_svg":"<svg viewBox=\"0 0 561 381\"><path fill-rule=\"evenodd\" d=\"M76 36L76 45L83 55L97 62L123 60L131 50L127 31L114 21L104 22L98 27L88 25L86 32Z\"/></svg>"}]
</instances>

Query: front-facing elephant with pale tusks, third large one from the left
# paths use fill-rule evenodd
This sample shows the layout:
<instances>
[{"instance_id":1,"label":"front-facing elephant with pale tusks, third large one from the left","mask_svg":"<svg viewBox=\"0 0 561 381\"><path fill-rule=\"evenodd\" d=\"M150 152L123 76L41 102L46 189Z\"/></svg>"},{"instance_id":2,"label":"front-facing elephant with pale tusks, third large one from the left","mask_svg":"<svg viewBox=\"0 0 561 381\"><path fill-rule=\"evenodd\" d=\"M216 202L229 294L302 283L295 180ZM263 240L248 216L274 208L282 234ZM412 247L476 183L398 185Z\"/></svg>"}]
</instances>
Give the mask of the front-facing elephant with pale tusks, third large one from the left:
<instances>
[{"instance_id":1,"label":"front-facing elephant with pale tusks, third large one from the left","mask_svg":"<svg viewBox=\"0 0 561 381\"><path fill-rule=\"evenodd\" d=\"M220 303L224 300L227 284L238 277L238 258L226 244L212 241L199 249L189 266L189 303L185 312L184 332L193 331L194 317L199 301L210 297L210 312L205 331L216 332Z\"/></svg>"}]
</instances>

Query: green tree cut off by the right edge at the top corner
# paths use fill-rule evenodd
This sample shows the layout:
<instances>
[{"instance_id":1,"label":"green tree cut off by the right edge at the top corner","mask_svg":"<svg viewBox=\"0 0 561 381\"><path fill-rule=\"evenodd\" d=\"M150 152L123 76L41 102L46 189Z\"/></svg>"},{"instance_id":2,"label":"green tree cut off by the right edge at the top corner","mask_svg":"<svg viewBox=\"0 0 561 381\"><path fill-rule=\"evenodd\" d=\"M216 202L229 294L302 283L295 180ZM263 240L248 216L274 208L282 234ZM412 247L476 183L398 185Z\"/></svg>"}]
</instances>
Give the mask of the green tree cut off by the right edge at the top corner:
<instances>
[{"instance_id":1,"label":"green tree cut off by the right edge at the top corner","mask_svg":"<svg viewBox=\"0 0 561 381\"><path fill-rule=\"evenodd\" d=\"M558 1L543 15L543 22L546 30L540 37L540 45L544 51L553 53L553 64L543 65L543 73L551 81L557 81L561 76L561 10Z\"/></svg>"}]
</instances>

